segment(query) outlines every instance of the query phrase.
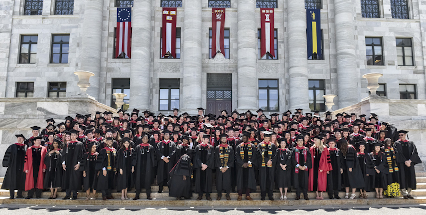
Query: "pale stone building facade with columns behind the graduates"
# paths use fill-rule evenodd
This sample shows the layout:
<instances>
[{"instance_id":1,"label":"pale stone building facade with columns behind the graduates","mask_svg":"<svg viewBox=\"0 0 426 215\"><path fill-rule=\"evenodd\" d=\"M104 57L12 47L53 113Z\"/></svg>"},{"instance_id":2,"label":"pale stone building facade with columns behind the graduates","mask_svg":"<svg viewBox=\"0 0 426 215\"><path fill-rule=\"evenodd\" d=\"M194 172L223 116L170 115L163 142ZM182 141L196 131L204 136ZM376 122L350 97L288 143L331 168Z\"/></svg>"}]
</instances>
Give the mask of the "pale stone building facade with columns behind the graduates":
<instances>
[{"instance_id":1,"label":"pale stone building facade with columns behind the graduates","mask_svg":"<svg viewBox=\"0 0 426 215\"><path fill-rule=\"evenodd\" d=\"M322 94L338 95L334 109L344 108L368 96L362 75L371 72L383 73L379 82L384 85L378 91L389 99L426 99L426 0L31 2L38 7L28 8L30 0L0 3L0 97L55 96L58 88L50 84L58 82L66 83L61 96L69 97L79 92L73 72L86 70L95 74L87 92L100 103L113 105L112 94L121 90L128 93L129 108L163 113L173 107L189 113L198 107L213 113L219 108L256 110L266 103L266 112L271 113L314 110L309 105L313 94L319 110ZM72 4L73 11L58 9L59 3ZM209 5L214 3L229 5L225 21L229 54L210 59ZM160 57L161 6L170 4L178 5L179 59ZM133 6L131 59L116 59L113 54L120 5ZM259 59L259 5L275 7L277 59ZM321 8L322 60L306 57L306 6ZM23 38L31 35L37 35L37 50L32 50L36 55L29 53L32 63L22 63L23 52L29 51L23 48ZM68 50L66 44L55 43L58 35L65 35L64 40L69 36ZM59 46L62 63L53 63L58 62ZM312 88L313 80L320 86ZM32 93L21 92L32 86L22 82L34 83Z\"/></svg>"}]
</instances>

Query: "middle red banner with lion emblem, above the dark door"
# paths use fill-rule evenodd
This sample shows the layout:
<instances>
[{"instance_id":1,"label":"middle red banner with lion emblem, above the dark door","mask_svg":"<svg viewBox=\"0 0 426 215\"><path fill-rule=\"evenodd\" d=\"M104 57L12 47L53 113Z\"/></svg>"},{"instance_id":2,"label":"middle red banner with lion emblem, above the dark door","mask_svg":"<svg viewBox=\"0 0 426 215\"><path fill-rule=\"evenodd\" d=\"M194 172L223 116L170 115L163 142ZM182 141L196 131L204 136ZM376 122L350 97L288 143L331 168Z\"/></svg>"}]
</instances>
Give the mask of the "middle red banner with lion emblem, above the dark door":
<instances>
[{"instance_id":1,"label":"middle red banner with lion emblem, above the dark door","mask_svg":"<svg viewBox=\"0 0 426 215\"><path fill-rule=\"evenodd\" d=\"M211 58L215 58L219 51L225 56L224 28L225 28L225 8L211 8L213 22L213 36L211 39Z\"/></svg>"}]
</instances>

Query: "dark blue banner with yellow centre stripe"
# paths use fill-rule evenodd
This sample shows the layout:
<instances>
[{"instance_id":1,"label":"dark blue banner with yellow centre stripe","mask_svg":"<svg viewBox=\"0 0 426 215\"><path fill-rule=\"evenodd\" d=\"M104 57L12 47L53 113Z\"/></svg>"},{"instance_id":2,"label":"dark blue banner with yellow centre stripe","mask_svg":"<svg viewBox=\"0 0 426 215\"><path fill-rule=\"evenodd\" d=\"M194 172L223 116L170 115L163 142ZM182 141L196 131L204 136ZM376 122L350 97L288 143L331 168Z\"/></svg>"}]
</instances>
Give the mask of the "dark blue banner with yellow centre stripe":
<instances>
[{"instance_id":1,"label":"dark blue banner with yellow centre stripe","mask_svg":"<svg viewBox=\"0 0 426 215\"><path fill-rule=\"evenodd\" d=\"M308 59L317 54L317 59L322 59L321 53L321 10L306 9L306 35L308 46Z\"/></svg>"}]
</instances>

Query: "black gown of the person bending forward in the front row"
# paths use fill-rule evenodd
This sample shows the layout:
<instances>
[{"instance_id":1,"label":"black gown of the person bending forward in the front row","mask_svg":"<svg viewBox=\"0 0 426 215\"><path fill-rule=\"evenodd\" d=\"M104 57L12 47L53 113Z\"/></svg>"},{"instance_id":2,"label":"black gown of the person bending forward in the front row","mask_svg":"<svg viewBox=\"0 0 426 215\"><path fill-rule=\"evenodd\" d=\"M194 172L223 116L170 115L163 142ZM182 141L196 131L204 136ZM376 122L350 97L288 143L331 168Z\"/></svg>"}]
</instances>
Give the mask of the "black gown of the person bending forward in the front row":
<instances>
[{"instance_id":1,"label":"black gown of the person bending forward in the front row","mask_svg":"<svg viewBox=\"0 0 426 215\"><path fill-rule=\"evenodd\" d=\"M191 157L183 154L177 161L176 165L170 171L169 195L170 197L192 197L192 185L191 185ZM183 179L186 177L186 180Z\"/></svg>"}]
</instances>

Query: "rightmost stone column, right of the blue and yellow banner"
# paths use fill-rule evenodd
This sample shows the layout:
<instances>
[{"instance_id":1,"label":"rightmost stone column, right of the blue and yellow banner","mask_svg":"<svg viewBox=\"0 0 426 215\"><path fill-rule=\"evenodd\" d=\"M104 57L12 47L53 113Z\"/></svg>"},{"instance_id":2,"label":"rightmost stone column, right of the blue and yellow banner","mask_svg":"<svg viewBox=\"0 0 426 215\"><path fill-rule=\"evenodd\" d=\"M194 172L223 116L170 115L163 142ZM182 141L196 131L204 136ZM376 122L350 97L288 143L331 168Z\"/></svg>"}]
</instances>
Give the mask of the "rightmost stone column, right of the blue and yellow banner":
<instances>
[{"instance_id":1,"label":"rightmost stone column, right of the blue and yellow banner","mask_svg":"<svg viewBox=\"0 0 426 215\"><path fill-rule=\"evenodd\" d=\"M358 103L353 10L351 0L334 0L339 109Z\"/></svg>"}]
</instances>

